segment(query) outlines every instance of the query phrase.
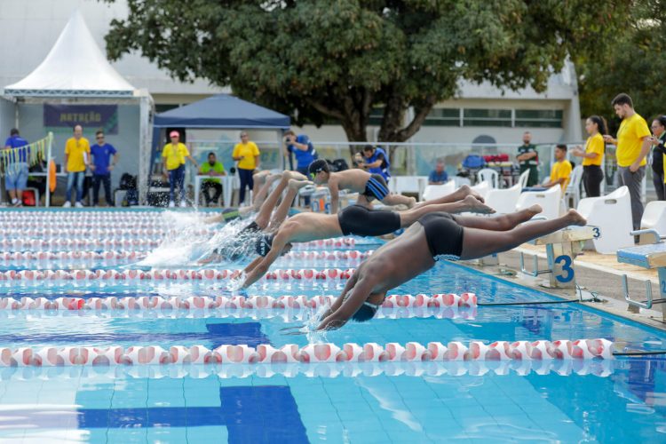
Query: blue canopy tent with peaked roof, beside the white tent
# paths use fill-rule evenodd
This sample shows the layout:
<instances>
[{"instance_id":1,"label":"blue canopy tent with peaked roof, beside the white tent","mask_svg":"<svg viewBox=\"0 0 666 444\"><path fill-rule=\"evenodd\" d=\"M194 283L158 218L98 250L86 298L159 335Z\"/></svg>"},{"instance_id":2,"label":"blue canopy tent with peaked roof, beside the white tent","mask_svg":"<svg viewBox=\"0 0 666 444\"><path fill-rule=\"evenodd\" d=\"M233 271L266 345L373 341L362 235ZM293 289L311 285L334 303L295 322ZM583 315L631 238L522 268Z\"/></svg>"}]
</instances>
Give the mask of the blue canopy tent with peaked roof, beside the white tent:
<instances>
[{"instance_id":1,"label":"blue canopy tent with peaked roof, beside the white tent","mask_svg":"<svg viewBox=\"0 0 666 444\"><path fill-rule=\"evenodd\" d=\"M153 131L153 159L161 155L161 140L168 129L212 130L274 130L278 147L282 134L289 130L289 115L282 115L230 94L218 94L186 107L178 107L155 115Z\"/></svg>"}]
</instances>

